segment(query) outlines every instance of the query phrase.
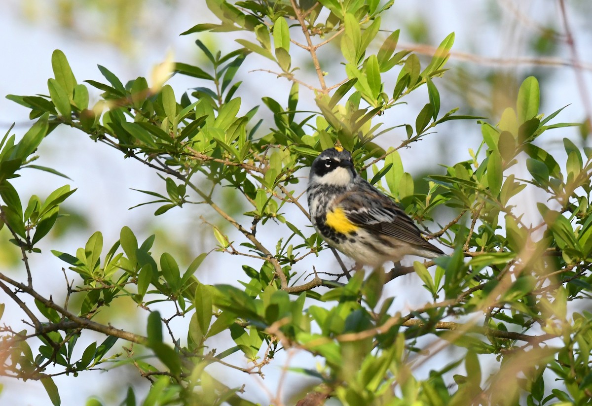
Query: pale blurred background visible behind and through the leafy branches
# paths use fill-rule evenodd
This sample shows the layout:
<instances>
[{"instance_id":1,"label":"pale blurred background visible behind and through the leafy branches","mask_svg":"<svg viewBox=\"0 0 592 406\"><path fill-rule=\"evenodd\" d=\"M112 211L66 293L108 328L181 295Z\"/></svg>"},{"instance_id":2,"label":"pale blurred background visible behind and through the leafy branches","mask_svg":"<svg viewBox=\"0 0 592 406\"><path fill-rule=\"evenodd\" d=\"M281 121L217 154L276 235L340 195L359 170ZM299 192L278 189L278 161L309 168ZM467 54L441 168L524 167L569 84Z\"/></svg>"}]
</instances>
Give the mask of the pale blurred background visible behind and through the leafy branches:
<instances>
[{"instance_id":1,"label":"pale blurred background visible behind and through the leafy branches","mask_svg":"<svg viewBox=\"0 0 592 406\"><path fill-rule=\"evenodd\" d=\"M175 61L199 65L202 54L194 43L197 38L214 49L229 51L239 47L231 38L239 38L240 33L179 36L195 24L215 21L205 0L3 0L2 8L0 96L47 93L47 79L53 77L51 55L54 49L64 51L78 82L86 79L102 82L103 78L96 67L101 64L126 83L137 76L150 78L153 68L171 53ZM581 128L555 129L545 134L544 139L539 139L539 145L552 154L558 154L558 161L562 164L562 160L565 160L562 138L568 137L576 145L590 145L590 15L592 2L589 0L395 0L385 15L387 19L382 21L384 32L379 33L379 36L385 38L390 33L388 30L400 28L399 48L414 50L424 56L422 60L427 60L446 35L453 31L456 33L447 66L449 71L444 79L435 82L440 90L442 112L459 108L461 114L485 116L495 124L501 112L513 106L522 80L530 75L536 76L541 87L541 112L549 115L569 105L556 120L585 124ZM301 56L305 57L304 54ZM323 62L323 55L320 57ZM258 69L265 69L266 63L259 56L247 58L247 69L243 73L249 73L240 77L239 80L244 83L237 93L243 98L244 112L250 109L249 106L262 105L259 109L259 116L264 119L260 127L262 134L273 122L260 97L271 95L284 103L284 95L290 86L285 79L260 72ZM327 80L339 82L343 78L343 69L331 63L334 62L330 58L324 59L323 69L329 72ZM292 64L303 67L298 73L301 79L314 79L311 72L307 72L307 68L311 67L309 60L300 63L293 61ZM387 81L395 79L385 78ZM178 76L169 83L178 97L186 89L203 85L198 79ZM261 86L262 83L265 86ZM89 90L92 105L93 100L98 100L99 91L93 87L89 87ZM427 93L414 92L411 96L406 100L407 105L396 106L380 118L385 128L414 122L426 103ZM304 90L300 102L303 103L300 109L315 108L313 95ZM2 135L13 123L15 127L12 133L21 137L31 125L28 111L2 97ZM378 143L385 148L396 147L404 137L403 132L395 130L379 138ZM480 128L475 121L450 121L439 125L437 134L429 135L420 144L400 151L405 170L416 181L427 173L441 173L442 168L438 164L469 159L468 149L477 150L480 137ZM22 177L14 182L22 201L27 202L31 194L38 194L44 199L63 184L78 187L64 206L69 217L60 220L57 232L40 245L43 253L31 255L31 266L37 278L36 287L41 294L49 296L53 293L56 299L56 293L65 288L61 271L65 264L54 258L49 249L73 253L96 230L104 235L105 251L117 241L124 225L130 226L140 241L156 234L156 254L171 252L182 267L186 267L201 252L215 248L210 226L200 219L200 216L211 213L204 212L200 206L184 207L184 210L176 208L159 217L153 216L156 206L128 210L128 207L147 201L146 196L130 188L164 190L160 178L137 161L124 160L118 152L102 144L95 145L81 132L65 127L54 131L41 144L38 154L38 164L55 168L72 178L72 181L28 170L30 172L22 173ZM522 177L528 176L520 165L514 170L518 174L524 171ZM307 176L306 173L302 175ZM304 183L298 186L301 191L304 191ZM532 196L530 202L517 202L519 206L522 205L520 210L525 213L527 222L536 221L538 213L529 210L535 207L533 202L542 198ZM240 207L237 207L237 212L239 210ZM296 212L292 214L298 215ZM216 220L210 221L215 223ZM308 225L305 224L304 216L301 216L300 222L302 226ZM6 234L7 230L2 229L0 233ZM5 242L8 240L6 237L2 235L0 239L0 269L14 277L22 277L24 270L21 269L20 252ZM233 240L232 234L230 239ZM274 241L274 235L269 236L269 241ZM236 261L213 252L198 270L197 277L206 284L244 279L240 269L244 261L240 259L233 266L233 260ZM308 263L299 264L300 268L295 270L308 272L313 264L317 269L320 264L327 268L336 267L333 256L323 252L318 259L311 258ZM233 270L233 267L236 269ZM71 278L72 274L68 274L68 277ZM401 311L429 300L429 295L424 293L415 275L392 281L385 294L397 295L395 308ZM0 297L0 302L3 301ZM139 311L134 303L130 302L128 306L125 312L121 308L117 311L117 314L126 314L125 317L118 316L112 320L109 309L105 309L99 314L98 321L109 320L117 327L144 333L146 312ZM20 324L24 328L20 317L18 310L10 308L7 303L2 323L13 326L15 330L19 329L17 327ZM122 345L123 342L118 342L114 348L121 348ZM433 362L447 362L453 358L454 354L443 352ZM245 364L240 357L233 362ZM226 369L223 381L227 385L233 385L233 379L247 382L246 397L266 404L268 391L275 393L276 386L282 383L279 377L287 362L284 357L278 359L276 365L269 366L265 381ZM291 359L291 362L292 366L314 368L316 361ZM426 366L427 371L429 369ZM215 376L215 368L213 373ZM299 385L307 383L301 381L301 375L290 373L287 376L288 379L291 376L298 379L301 382ZM115 368L110 373L87 372L78 378L60 376L55 381L64 405L82 404L91 395L98 395L104 404L118 404L128 385L137 388L139 398L144 397L149 387L148 382L129 366ZM0 384L4 385L0 393L0 402L3 404L44 405L49 402L39 382L0 377ZM298 388L289 390L297 391Z\"/></svg>"}]
</instances>

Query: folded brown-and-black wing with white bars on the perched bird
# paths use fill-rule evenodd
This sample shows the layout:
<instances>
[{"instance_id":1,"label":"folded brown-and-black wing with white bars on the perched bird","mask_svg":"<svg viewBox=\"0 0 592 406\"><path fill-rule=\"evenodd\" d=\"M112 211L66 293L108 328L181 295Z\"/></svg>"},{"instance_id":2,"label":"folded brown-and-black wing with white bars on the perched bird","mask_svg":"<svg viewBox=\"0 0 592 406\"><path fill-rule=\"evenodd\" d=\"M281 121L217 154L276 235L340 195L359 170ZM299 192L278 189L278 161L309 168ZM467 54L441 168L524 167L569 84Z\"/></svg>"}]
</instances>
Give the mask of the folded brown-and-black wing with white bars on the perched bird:
<instances>
[{"instance_id":1,"label":"folded brown-and-black wing with white bars on the perched bird","mask_svg":"<svg viewBox=\"0 0 592 406\"><path fill-rule=\"evenodd\" d=\"M403 209L377 190L367 190L365 195L346 193L340 199L339 207L355 225L418 245L429 251L441 252L423 239L422 232Z\"/></svg>"}]
</instances>

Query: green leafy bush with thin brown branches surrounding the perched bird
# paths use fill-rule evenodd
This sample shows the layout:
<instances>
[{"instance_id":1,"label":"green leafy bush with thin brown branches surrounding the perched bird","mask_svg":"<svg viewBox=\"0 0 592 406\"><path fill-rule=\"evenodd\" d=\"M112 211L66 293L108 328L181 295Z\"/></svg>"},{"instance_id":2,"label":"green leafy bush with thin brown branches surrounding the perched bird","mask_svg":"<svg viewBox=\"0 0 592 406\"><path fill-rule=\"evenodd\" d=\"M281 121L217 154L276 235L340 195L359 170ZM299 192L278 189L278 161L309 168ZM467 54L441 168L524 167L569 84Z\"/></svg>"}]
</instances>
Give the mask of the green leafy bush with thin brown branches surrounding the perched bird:
<instances>
[{"instance_id":1,"label":"green leafy bush with thin brown branches surrounding the perched bird","mask_svg":"<svg viewBox=\"0 0 592 406\"><path fill-rule=\"evenodd\" d=\"M555 122L561 109L540 113L538 81L527 77L516 106L507 108L500 122L478 121L482 142L475 152L446 165L444 174L429 176L427 191L418 193L398 150L416 148L416 141L443 122L481 118L440 112L435 82L446 72L454 35L427 63L410 51L397 51L399 31L385 38L380 32L381 15L391 4L208 1L219 21L184 34L242 31L245 36L227 54L198 40L204 64L171 65L165 79L175 73L207 84L181 96L164 85L166 80L150 86L138 77L124 85L102 66L106 83L79 83L66 56L55 51L49 95L8 96L29 108L35 123L18 142L11 129L0 144L1 224L24 262L19 278L0 273L0 288L31 326L20 332L3 329L2 374L41 380L57 405L52 376L134 363L152 382L145 405L247 405L253 403L242 388L227 385L208 366L263 375L272 360L291 349L321 360L316 369L298 370L317 381L308 394L296 395L301 405L327 398L346 405L510 405L519 399L528 405L587 404L592 314L581 309L592 290L592 151L564 139L562 168L559 158L535 144L546 131L574 124ZM342 64L324 72L329 56L321 57L321 50L336 53L337 47ZM314 80L301 74L304 66L295 66L294 48L307 53ZM272 73L292 83L284 101L262 99L273 122L259 119L258 100L235 96L247 58L271 61ZM94 105L88 85L103 92ZM384 150L375 140L392 128L381 129L380 116L422 88L427 103L414 120L400 125L407 138ZM301 94L314 100L303 102ZM308 111L313 101L316 110ZM75 190L66 185L46 199L31 196L24 203L12 179L25 167L61 175L33 163L37 147L58 126L76 128L159 173L166 195L143 190L153 199L149 203L158 204L155 215L173 207L191 210L189 203L209 206L235 230L231 235L211 225L218 251L228 254L229 264L232 255L245 263L259 259L259 269L243 265L239 284L205 285L194 273L207 253L181 269L175 253L152 254L154 236L139 242L124 226L106 252L100 232L75 253L52 251L76 285L62 292L64 303L39 294L28 257L49 255L40 252L38 242L60 221L60 205ZM446 216L455 214L445 225L430 225L449 255L411 268L359 271L349 280L309 269L313 278L303 282L294 265L327 248L301 223L308 216L301 182L314 157L336 143L352 151L357 170L417 222L429 222L439 207L449 207ZM524 164L529 176L520 178L516 168ZM232 202L220 193L228 186L236 192ZM545 197L537 204L535 225L526 224L516 209L529 190ZM248 208L235 213L237 206ZM260 238L270 233L277 236L271 245ZM432 301L401 313L383 287L410 272L419 275ZM81 300L69 301L71 295ZM146 334L94 320L105 306L126 299L148 312ZM162 303L175 311L161 314ZM183 328L170 328L172 320ZM85 330L105 338L91 342L76 359L73 350ZM218 338L229 336L232 345L219 347L227 342ZM432 343L424 344L423 336ZM112 355L122 340L153 357ZM462 358L430 363L429 376L417 376L420 365L449 346L464 349ZM236 352L244 354L248 368L225 360ZM495 355L488 373L482 373L482 355ZM466 373L455 374L462 363ZM136 404L135 399L130 388L124 403ZM278 395L270 402L284 400Z\"/></svg>"}]
</instances>

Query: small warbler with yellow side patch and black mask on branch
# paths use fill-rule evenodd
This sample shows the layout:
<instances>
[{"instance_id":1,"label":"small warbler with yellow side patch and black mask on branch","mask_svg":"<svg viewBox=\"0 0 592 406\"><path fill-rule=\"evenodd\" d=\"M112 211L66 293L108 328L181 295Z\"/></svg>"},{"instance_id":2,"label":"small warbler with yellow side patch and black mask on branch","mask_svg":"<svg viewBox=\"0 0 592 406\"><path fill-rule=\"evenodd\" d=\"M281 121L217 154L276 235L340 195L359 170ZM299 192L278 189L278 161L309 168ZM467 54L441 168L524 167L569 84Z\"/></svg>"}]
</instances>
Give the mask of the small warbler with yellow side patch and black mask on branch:
<instances>
[{"instance_id":1,"label":"small warbler with yellow side patch and black mask on branch","mask_svg":"<svg viewBox=\"0 0 592 406\"><path fill-rule=\"evenodd\" d=\"M405 255L444 254L390 197L356 173L352 154L341 147L324 150L313 161L307 193L317 233L356 265L379 267Z\"/></svg>"}]
</instances>

